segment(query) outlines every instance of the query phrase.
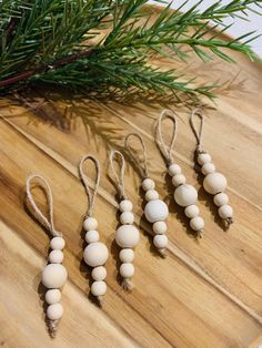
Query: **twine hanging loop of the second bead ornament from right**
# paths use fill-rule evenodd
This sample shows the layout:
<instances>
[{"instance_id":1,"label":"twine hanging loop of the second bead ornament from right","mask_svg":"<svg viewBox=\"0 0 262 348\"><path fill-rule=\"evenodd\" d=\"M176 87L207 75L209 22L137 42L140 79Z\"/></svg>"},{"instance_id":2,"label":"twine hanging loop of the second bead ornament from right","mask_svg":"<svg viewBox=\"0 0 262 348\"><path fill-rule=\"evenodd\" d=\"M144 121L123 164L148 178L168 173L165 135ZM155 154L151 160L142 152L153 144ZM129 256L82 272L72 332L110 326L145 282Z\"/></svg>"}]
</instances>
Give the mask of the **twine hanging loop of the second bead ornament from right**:
<instances>
[{"instance_id":1,"label":"twine hanging loop of the second bead ornament from right","mask_svg":"<svg viewBox=\"0 0 262 348\"><path fill-rule=\"evenodd\" d=\"M157 123L157 132L159 135L159 139L157 139L157 144L167 160L168 165L173 163L173 156L172 156L172 150L174 146L174 142L177 140L178 135L178 121L177 121L177 113L171 110L163 110L159 116L158 123ZM163 132L162 132L162 122L164 119L170 119L173 122L173 133L172 139L170 142L170 145L167 145L163 140Z\"/></svg>"}]
</instances>

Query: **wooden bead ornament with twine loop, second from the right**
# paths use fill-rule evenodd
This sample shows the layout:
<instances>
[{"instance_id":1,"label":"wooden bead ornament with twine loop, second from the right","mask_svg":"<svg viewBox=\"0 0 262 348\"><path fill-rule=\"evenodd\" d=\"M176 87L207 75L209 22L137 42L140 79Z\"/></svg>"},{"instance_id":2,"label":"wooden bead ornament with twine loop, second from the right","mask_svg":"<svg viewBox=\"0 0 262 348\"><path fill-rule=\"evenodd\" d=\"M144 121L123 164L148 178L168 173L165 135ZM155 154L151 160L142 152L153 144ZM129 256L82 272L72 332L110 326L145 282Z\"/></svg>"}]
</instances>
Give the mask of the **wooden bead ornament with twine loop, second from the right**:
<instances>
[{"instance_id":1,"label":"wooden bead ornament with twine loop, second from the right","mask_svg":"<svg viewBox=\"0 0 262 348\"><path fill-rule=\"evenodd\" d=\"M170 119L173 121L173 134L169 146L165 145L162 133L162 121ZM195 232L196 237L202 237L204 228L204 221L199 216L198 192L196 190L187 184L187 178L182 174L182 168L179 164L174 163L172 156L172 150L178 134L178 121L175 113L170 110L161 112L157 124L157 144L165 160L169 175L172 177L172 184L174 188L174 201L178 205L184 207L184 214L190 218L190 227Z\"/></svg>"}]
</instances>

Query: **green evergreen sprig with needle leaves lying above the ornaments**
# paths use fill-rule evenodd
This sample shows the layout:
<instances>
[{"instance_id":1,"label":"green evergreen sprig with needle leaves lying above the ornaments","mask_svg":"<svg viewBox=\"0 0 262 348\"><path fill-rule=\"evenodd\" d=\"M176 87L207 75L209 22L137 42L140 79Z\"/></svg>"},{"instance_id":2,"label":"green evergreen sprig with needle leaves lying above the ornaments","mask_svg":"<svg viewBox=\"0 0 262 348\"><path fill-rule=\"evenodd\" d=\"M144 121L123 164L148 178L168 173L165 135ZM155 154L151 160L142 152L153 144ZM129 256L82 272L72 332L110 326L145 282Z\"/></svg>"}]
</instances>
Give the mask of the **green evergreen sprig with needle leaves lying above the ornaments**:
<instances>
[{"instance_id":1,"label":"green evergreen sprig with needle leaves lying above the ornaments","mask_svg":"<svg viewBox=\"0 0 262 348\"><path fill-rule=\"evenodd\" d=\"M0 92L44 82L81 92L173 94L213 98L214 85L198 85L178 70L152 64L157 54L188 61L190 51L233 62L230 51L255 59L255 32L225 40L229 17L262 13L262 0L203 0L157 17L147 0L2 0L0 3ZM160 1L161 2L161 1ZM251 7L252 6L252 7ZM190 50L189 50L190 49Z\"/></svg>"}]
</instances>

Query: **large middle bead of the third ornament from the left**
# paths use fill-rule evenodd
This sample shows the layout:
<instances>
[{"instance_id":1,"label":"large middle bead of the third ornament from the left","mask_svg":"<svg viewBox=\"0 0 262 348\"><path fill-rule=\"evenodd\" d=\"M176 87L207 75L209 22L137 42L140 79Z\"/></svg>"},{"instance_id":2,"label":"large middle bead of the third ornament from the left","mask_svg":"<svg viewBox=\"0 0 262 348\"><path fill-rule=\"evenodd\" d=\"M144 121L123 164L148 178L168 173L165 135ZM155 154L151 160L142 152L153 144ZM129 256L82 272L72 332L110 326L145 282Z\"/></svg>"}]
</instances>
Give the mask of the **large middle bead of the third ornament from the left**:
<instances>
[{"instance_id":1,"label":"large middle bead of the third ornament from the left","mask_svg":"<svg viewBox=\"0 0 262 348\"><path fill-rule=\"evenodd\" d=\"M122 248L135 247L139 240L139 231L133 225L122 225L115 232L115 242Z\"/></svg>"}]
</instances>

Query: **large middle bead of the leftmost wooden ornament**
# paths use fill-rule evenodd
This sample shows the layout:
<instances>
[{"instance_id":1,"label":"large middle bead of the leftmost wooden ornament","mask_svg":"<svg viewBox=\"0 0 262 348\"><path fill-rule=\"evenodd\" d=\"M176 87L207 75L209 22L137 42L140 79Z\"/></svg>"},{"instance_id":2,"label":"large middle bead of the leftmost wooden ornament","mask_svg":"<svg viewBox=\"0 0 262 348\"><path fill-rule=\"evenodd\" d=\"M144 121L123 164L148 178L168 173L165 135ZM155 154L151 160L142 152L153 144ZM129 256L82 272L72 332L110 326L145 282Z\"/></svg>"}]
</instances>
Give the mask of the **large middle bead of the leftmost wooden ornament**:
<instances>
[{"instance_id":1,"label":"large middle bead of the leftmost wooden ornament","mask_svg":"<svg viewBox=\"0 0 262 348\"><path fill-rule=\"evenodd\" d=\"M68 272L63 265L49 264L42 272L42 284L49 289L60 288L68 278Z\"/></svg>"}]
</instances>

